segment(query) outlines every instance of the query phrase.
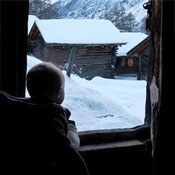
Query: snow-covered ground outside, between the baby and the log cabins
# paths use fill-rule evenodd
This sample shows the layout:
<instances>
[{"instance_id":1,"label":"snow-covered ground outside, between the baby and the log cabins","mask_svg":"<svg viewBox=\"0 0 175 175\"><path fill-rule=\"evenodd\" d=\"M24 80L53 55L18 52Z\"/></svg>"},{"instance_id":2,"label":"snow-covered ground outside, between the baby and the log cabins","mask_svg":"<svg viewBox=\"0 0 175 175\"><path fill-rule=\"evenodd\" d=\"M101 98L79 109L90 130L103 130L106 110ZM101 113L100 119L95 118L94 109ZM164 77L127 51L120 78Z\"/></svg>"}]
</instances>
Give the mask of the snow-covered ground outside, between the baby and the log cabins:
<instances>
[{"instance_id":1,"label":"snow-covered ground outside, between the baby and the log cabins","mask_svg":"<svg viewBox=\"0 0 175 175\"><path fill-rule=\"evenodd\" d=\"M27 70L41 62L31 56L27 61ZM88 81L63 73L66 96L62 105L71 110L78 131L130 128L144 123L146 81L101 77Z\"/></svg>"}]
</instances>

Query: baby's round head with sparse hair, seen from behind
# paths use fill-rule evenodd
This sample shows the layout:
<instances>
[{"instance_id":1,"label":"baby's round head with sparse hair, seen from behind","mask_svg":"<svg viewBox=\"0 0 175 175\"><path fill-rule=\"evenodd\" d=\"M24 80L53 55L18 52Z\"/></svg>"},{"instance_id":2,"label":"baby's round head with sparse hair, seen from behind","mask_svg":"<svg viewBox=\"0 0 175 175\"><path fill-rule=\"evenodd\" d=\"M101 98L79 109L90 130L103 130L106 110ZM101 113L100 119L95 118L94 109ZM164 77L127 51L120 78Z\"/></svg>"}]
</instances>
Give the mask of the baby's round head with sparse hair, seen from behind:
<instances>
[{"instance_id":1,"label":"baby's round head with sparse hair, seen from behind","mask_svg":"<svg viewBox=\"0 0 175 175\"><path fill-rule=\"evenodd\" d=\"M61 104L64 100L64 75L51 63L40 63L27 74L27 89L33 99Z\"/></svg>"}]
</instances>

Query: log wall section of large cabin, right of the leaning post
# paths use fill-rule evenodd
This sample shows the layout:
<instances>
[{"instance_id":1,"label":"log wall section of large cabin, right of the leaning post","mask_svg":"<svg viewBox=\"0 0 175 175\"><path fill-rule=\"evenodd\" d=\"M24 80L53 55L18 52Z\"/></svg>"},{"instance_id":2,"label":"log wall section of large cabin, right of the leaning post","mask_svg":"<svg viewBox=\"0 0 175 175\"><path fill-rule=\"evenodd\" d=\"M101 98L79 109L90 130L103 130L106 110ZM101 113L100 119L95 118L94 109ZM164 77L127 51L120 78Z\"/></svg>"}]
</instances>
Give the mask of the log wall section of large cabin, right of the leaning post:
<instances>
[{"instance_id":1,"label":"log wall section of large cabin, right of the leaning post","mask_svg":"<svg viewBox=\"0 0 175 175\"><path fill-rule=\"evenodd\" d=\"M113 48L110 46L77 49L73 71L80 77L86 77L88 79L94 76L112 78L112 53Z\"/></svg>"}]
</instances>

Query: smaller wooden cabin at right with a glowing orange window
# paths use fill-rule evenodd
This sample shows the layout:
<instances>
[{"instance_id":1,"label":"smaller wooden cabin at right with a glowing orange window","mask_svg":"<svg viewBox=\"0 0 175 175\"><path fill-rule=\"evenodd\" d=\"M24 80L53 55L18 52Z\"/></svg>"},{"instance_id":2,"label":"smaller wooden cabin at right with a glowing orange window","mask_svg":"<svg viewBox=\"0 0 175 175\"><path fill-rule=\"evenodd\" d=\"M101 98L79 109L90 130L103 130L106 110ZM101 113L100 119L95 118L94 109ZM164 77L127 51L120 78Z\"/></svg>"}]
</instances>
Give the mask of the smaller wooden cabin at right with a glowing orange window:
<instances>
[{"instance_id":1,"label":"smaller wooden cabin at right with a glowing orange window","mask_svg":"<svg viewBox=\"0 0 175 175\"><path fill-rule=\"evenodd\" d=\"M127 36L130 35L129 33ZM131 33L131 35L133 35ZM148 72L148 59L149 59L149 37L145 34L135 33L135 42L132 41L129 46L122 46L124 49L116 57L115 70L117 76L136 77L137 79L146 80ZM134 36L133 35L133 36ZM131 36L132 39L134 39ZM129 40L129 37L128 37ZM140 41L140 42L139 42Z\"/></svg>"}]
</instances>

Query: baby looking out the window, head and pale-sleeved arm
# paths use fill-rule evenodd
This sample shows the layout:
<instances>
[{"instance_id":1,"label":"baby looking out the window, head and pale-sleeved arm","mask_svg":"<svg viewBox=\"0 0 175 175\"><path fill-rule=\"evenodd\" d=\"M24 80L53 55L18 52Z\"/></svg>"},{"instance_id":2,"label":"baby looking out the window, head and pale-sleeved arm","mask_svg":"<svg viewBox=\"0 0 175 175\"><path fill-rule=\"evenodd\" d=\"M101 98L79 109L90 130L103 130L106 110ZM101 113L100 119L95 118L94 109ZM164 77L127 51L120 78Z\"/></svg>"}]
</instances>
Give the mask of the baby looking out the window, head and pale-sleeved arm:
<instances>
[{"instance_id":1,"label":"baby looking out the window, head and pale-sleeved arm","mask_svg":"<svg viewBox=\"0 0 175 175\"><path fill-rule=\"evenodd\" d=\"M40 104L56 103L64 101L65 79L62 71L51 63L40 63L29 70L27 75L27 89L32 101ZM62 108L58 106L58 108ZM68 120L71 113L67 108L62 108ZM67 136L72 145L79 147L80 141L75 128L75 122L68 120Z\"/></svg>"}]
</instances>

